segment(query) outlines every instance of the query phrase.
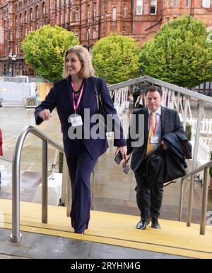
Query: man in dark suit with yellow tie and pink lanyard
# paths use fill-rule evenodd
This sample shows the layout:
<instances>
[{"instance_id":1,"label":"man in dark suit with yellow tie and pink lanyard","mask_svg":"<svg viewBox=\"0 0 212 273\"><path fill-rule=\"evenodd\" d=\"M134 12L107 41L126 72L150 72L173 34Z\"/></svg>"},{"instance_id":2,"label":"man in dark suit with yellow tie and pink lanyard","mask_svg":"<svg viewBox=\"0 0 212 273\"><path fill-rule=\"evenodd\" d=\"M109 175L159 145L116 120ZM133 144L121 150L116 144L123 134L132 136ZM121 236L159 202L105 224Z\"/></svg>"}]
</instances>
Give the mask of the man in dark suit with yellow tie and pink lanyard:
<instances>
[{"instance_id":1,"label":"man in dark suit with yellow tie and pink lanyard","mask_svg":"<svg viewBox=\"0 0 212 273\"><path fill-rule=\"evenodd\" d=\"M139 125L139 116L144 116L144 141L135 145L131 138L131 128L126 140L127 155L131 155L131 169L136 177L136 201L141 211L141 221L136 228L144 230L151 221L151 227L160 229L158 216L163 199L163 188L149 188L146 177L143 176L143 169L146 167L146 155L151 154L161 144L167 150L167 145L161 140L165 133L182 132L184 129L179 121L179 115L174 109L161 106L162 90L160 87L151 86L146 89L146 106L133 112L136 121L136 132L143 130ZM134 146L134 147L133 147ZM136 147L138 146L138 147ZM127 160L123 163L126 165Z\"/></svg>"}]
</instances>

